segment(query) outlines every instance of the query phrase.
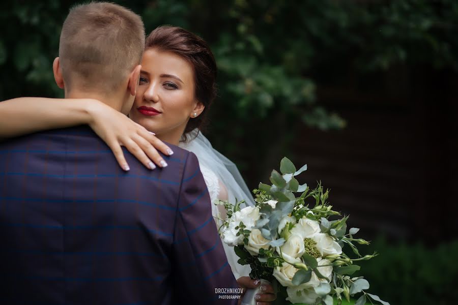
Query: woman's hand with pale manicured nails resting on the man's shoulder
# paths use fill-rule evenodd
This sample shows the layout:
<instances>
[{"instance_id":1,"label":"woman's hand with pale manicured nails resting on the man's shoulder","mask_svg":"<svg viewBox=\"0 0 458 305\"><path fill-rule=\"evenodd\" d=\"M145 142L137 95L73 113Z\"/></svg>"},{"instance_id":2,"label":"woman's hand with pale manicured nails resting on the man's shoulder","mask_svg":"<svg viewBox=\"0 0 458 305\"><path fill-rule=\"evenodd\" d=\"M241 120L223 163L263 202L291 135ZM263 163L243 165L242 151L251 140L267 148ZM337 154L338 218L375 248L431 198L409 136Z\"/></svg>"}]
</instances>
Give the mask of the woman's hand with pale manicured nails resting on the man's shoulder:
<instances>
[{"instance_id":1,"label":"woman's hand with pale manicured nails resting on the man's shoulder","mask_svg":"<svg viewBox=\"0 0 458 305\"><path fill-rule=\"evenodd\" d=\"M156 138L154 133L99 101L90 103L88 112L91 116L89 126L110 147L121 168L129 170L121 146L126 146L130 153L149 169L155 169L155 164L160 167L167 166L157 150L168 156L172 155L173 151Z\"/></svg>"}]
</instances>

